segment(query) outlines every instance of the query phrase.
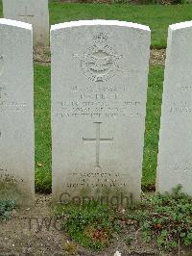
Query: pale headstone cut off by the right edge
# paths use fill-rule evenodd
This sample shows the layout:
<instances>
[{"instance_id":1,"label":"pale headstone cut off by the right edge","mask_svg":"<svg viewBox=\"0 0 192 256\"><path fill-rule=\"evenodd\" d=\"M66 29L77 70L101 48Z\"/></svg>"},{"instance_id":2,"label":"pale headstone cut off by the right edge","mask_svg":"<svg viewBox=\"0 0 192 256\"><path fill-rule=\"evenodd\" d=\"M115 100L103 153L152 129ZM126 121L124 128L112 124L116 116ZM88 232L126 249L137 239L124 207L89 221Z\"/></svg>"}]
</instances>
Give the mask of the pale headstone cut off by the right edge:
<instances>
[{"instance_id":1,"label":"pale headstone cut off by the right edge","mask_svg":"<svg viewBox=\"0 0 192 256\"><path fill-rule=\"evenodd\" d=\"M156 191L192 195L192 22L169 27Z\"/></svg>"}]
</instances>

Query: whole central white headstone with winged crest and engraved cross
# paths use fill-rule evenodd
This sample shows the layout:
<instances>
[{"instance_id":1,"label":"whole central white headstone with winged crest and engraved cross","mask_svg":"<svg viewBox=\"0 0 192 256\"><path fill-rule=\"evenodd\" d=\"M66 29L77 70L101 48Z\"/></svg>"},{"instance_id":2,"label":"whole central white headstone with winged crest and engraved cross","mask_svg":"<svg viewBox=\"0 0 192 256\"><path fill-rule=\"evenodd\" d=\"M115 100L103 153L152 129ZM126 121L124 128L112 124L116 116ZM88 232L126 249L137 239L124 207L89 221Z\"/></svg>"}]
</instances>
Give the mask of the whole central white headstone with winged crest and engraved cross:
<instances>
[{"instance_id":1,"label":"whole central white headstone with winged crest and engraved cross","mask_svg":"<svg viewBox=\"0 0 192 256\"><path fill-rule=\"evenodd\" d=\"M150 29L67 22L51 48L54 199L139 200Z\"/></svg>"}]
</instances>

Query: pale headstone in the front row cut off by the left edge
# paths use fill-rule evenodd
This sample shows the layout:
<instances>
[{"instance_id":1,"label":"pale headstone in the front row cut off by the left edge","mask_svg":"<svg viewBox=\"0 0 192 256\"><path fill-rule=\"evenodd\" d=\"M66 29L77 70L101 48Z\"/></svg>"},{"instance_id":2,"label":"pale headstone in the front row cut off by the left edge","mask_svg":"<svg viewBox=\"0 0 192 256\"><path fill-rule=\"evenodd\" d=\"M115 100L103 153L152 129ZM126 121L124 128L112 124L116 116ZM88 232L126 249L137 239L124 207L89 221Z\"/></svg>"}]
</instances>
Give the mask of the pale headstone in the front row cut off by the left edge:
<instances>
[{"instance_id":1,"label":"pale headstone in the front row cut off by the left edge","mask_svg":"<svg viewBox=\"0 0 192 256\"><path fill-rule=\"evenodd\" d=\"M0 19L0 198L35 194L32 25Z\"/></svg>"}]
</instances>

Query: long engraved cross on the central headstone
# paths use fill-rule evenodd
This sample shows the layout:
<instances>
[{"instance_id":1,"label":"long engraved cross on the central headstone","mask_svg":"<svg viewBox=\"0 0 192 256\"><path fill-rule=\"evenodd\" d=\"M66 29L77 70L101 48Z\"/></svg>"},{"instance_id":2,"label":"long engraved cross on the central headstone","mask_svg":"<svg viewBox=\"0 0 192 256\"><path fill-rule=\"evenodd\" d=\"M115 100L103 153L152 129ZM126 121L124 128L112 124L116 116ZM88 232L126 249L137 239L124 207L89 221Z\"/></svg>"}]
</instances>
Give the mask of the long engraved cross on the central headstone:
<instances>
[{"instance_id":1,"label":"long engraved cross on the central headstone","mask_svg":"<svg viewBox=\"0 0 192 256\"><path fill-rule=\"evenodd\" d=\"M100 130L101 130L101 123L102 122L94 122L96 124L96 138L95 139L84 139L84 142L96 142L96 162L95 166L100 168L100 142L111 142L113 138L110 139L101 139L100 137Z\"/></svg>"}]
</instances>

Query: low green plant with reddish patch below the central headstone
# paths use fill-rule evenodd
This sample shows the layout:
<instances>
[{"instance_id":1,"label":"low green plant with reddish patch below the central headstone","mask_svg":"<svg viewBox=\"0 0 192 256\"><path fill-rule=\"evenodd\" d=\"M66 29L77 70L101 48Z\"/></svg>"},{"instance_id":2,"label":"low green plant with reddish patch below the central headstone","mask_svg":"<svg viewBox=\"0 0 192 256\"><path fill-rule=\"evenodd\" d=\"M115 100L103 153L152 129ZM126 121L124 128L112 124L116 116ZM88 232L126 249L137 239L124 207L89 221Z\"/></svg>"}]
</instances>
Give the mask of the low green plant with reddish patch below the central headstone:
<instances>
[{"instance_id":1,"label":"low green plant with reddish patch below the central headstone","mask_svg":"<svg viewBox=\"0 0 192 256\"><path fill-rule=\"evenodd\" d=\"M57 206L56 214L62 217L63 230L84 247L101 250L108 246L116 225L115 213L107 205L95 201Z\"/></svg>"}]
</instances>

